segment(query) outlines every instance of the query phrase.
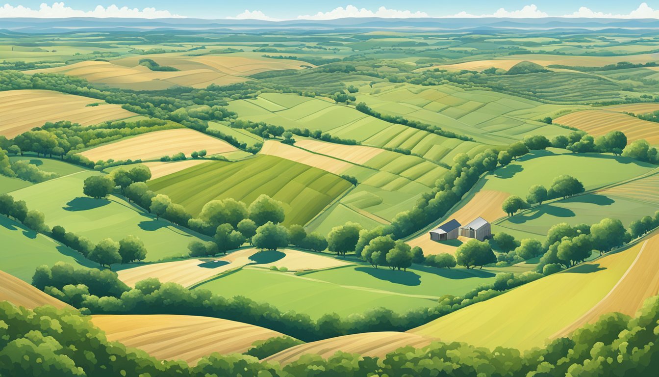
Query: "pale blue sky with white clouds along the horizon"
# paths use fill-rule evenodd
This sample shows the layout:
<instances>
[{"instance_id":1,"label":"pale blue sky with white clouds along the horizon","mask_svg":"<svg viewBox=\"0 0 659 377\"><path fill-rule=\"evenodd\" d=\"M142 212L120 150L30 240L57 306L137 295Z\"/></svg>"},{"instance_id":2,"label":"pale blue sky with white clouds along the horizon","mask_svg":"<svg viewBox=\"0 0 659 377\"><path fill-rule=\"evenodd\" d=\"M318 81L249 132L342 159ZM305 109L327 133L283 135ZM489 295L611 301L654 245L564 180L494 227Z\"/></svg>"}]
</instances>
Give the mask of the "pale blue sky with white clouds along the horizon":
<instances>
[{"instance_id":1,"label":"pale blue sky with white clouds along the horizon","mask_svg":"<svg viewBox=\"0 0 659 377\"><path fill-rule=\"evenodd\" d=\"M659 18L659 0L0 1L0 17L192 17L261 20L321 20L343 17Z\"/></svg>"}]
</instances>

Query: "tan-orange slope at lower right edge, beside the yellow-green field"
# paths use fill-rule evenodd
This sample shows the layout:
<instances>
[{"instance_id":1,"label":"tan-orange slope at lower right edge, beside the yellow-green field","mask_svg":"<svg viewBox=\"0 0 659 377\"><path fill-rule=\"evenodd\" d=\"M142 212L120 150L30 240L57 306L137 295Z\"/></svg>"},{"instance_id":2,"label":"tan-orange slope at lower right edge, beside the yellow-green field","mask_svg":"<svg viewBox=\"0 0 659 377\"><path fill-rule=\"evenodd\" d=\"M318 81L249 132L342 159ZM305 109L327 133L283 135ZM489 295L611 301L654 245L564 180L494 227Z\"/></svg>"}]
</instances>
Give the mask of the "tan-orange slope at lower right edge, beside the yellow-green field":
<instances>
[{"instance_id":1,"label":"tan-orange slope at lower right edge, beside the yellow-green field","mask_svg":"<svg viewBox=\"0 0 659 377\"><path fill-rule=\"evenodd\" d=\"M643 242L641 252L616 285L600 302L578 320L552 336L564 337L584 324L596 322L600 316L619 312L634 316L646 298L659 293L659 236Z\"/></svg>"}]
</instances>

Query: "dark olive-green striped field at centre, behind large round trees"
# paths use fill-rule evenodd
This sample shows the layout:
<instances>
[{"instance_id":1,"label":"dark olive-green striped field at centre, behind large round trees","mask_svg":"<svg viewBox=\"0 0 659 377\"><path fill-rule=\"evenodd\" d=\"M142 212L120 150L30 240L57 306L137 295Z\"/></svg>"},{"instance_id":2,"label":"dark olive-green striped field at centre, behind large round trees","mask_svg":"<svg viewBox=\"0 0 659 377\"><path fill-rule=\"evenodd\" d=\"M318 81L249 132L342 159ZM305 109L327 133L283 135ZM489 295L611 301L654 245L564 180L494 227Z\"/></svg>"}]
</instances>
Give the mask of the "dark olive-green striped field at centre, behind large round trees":
<instances>
[{"instance_id":1,"label":"dark olive-green striped field at centre, behind large round trees","mask_svg":"<svg viewBox=\"0 0 659 377\"><path fill-rule=\"evenodd\" d=\"M284 224L306 224L352 185L339 176L275 156L239 162L208 162L149 183L158 193L197 215L214 199L231 197L247 205L266 194L283 203ZM190 195L194 187L195 195Z\"/></svg>"}]
</instances>

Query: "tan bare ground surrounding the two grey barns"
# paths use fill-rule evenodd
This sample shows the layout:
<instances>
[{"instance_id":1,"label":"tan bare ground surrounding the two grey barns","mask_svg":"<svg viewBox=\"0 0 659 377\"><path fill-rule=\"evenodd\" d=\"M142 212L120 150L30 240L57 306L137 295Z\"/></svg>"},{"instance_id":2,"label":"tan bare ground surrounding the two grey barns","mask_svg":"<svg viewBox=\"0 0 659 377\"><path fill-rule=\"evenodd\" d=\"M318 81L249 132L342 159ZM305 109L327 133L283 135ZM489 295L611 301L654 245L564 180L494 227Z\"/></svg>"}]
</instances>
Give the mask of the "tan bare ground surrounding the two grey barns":
<instances>
[{"instance_id":1,"label":"tan bare ground surrounding the two grey barns","mask_svg":"<svg viewBox=\"0 0 659 377\"><path fill-rule=\"evenodd\" d=\"M447 221L456 219L460 224L465 225L471 223L471 221L480 216L492 223L496 219L505 216L505 213L501 209L501 203L503 203L503 201L509 196L509 193L503 191L478 191L469 203L449 215ZM461 242L467 242L469 238L459 237L458 240ZM426 254L426 256L440 253L455 254L455 250L457 249L457 246L430 240L430 234L428 234L428 232L420 234L409 240L407 243L412 247L418 246L422 248L423 253Z\"/></svg>"}]
</instances>

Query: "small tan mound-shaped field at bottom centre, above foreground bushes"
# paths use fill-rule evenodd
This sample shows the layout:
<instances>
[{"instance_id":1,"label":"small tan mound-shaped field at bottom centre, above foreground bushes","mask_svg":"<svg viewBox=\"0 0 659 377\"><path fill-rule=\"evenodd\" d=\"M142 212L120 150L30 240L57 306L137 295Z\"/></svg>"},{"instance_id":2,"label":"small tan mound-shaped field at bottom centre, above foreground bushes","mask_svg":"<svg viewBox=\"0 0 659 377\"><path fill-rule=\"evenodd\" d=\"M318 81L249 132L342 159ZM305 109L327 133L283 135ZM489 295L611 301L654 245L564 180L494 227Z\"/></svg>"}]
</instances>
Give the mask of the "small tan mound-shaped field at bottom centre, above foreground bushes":
<instances>
[{"instance_id":1,"label":"small tan mound-shaped field at bottom centre, above foreground bushes","mask_svg":"<svg viewBox=\"0 0 659 377\"><path fill-rule=\"evenodd\" d=\"M338 351L369 357L384 357L401 347L425 347L434 340L436 339L432 337L396 331L360 333L296 345L264 360L289 364L300 359L302 355L314 354L327 359Z\"/></svg>"}]
</instances>

